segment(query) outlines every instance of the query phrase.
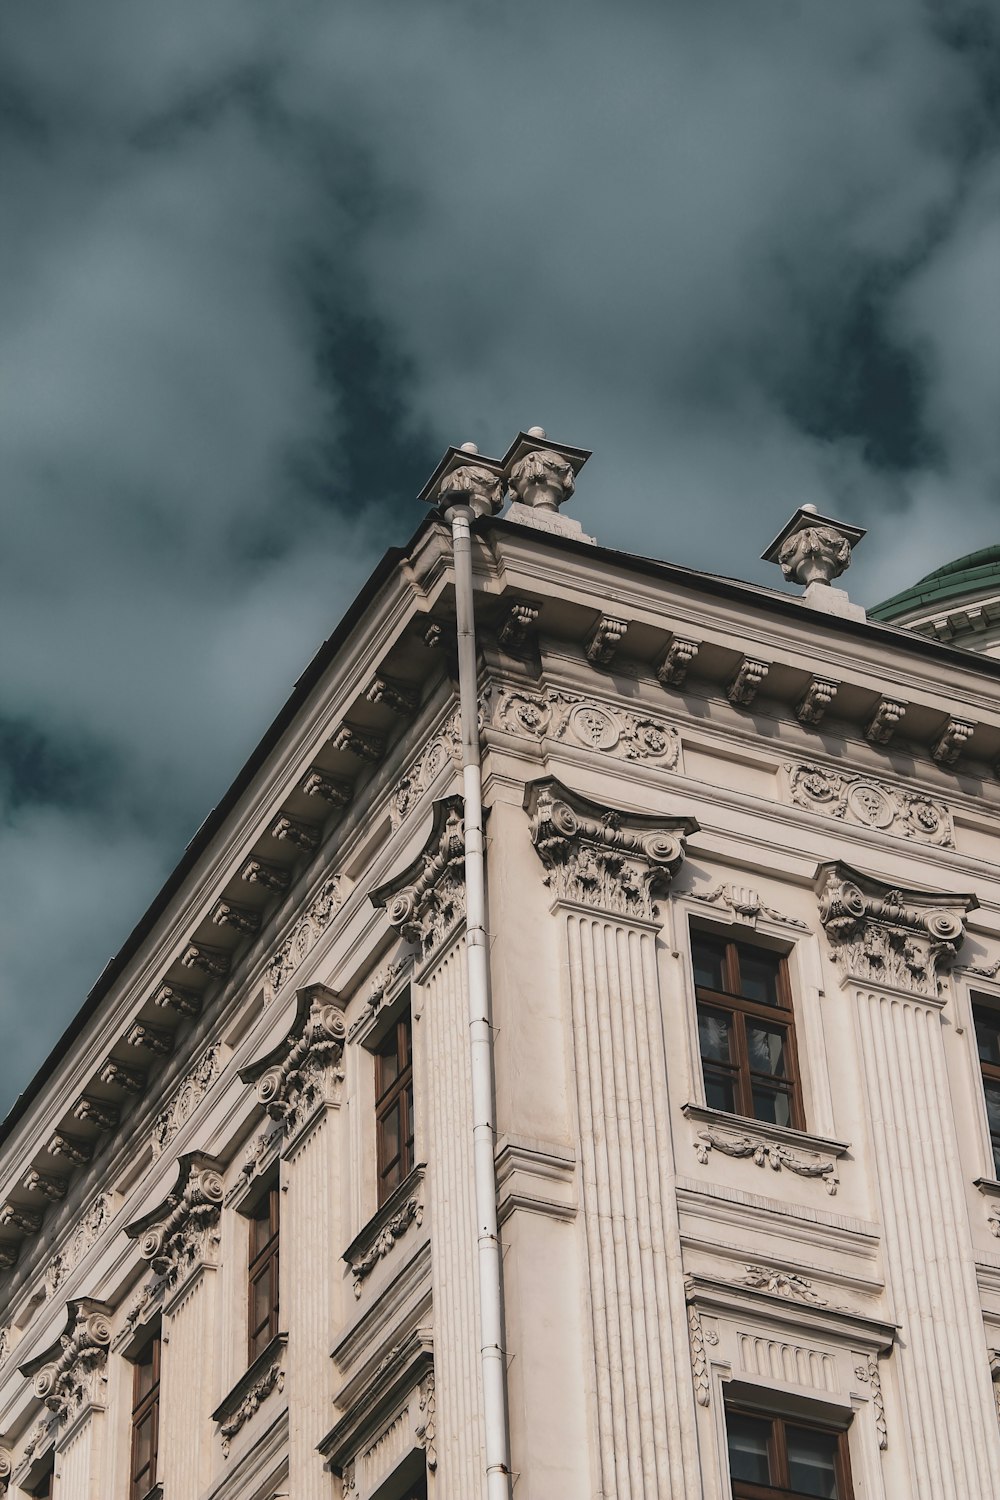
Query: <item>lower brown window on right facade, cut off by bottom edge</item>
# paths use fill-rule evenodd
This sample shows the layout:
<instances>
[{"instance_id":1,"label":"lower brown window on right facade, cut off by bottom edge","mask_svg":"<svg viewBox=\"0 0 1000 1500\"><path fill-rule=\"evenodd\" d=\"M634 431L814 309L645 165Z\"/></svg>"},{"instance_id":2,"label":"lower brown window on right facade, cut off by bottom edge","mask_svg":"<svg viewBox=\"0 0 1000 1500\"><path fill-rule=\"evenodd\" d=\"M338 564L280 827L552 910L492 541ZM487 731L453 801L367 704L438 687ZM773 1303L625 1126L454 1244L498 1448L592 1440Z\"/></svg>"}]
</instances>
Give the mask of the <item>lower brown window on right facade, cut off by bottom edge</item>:
<instances>
[{"instance_id":1,"label":"lower brown window on right facade, cut off by bottom edge","mask_svg":"<svg viewBox=\"0 0 1000 1500\"><path fill-rule=\"evenodd\" d=\"M852 1500L847 1434L727 1407L733 1500Z\"/></svg>"}]
</instances>

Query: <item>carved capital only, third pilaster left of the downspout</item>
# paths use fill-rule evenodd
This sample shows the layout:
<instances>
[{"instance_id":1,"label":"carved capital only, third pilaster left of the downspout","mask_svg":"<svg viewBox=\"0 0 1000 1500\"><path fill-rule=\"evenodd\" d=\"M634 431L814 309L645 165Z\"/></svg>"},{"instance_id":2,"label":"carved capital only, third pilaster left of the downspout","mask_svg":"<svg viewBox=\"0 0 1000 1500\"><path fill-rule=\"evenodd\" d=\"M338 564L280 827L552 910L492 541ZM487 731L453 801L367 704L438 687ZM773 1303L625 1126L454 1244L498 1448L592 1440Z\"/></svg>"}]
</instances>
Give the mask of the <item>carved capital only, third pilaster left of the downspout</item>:
<instances>
[{"instance_id":1,"label":"carved capital only, third pilaster left of the downspout","mask_svg":"<svg viewBox=\"0 0 1000 1500\"><path fill-rule=\"evenodd\" d=\"M165 1286L174 1287L201 1264L214 1262L223 1198L220 1162L202 1152L180 1158L177 1184L163 1202L126 1226L139 1256Z\"/></svg>"}]
</instances>

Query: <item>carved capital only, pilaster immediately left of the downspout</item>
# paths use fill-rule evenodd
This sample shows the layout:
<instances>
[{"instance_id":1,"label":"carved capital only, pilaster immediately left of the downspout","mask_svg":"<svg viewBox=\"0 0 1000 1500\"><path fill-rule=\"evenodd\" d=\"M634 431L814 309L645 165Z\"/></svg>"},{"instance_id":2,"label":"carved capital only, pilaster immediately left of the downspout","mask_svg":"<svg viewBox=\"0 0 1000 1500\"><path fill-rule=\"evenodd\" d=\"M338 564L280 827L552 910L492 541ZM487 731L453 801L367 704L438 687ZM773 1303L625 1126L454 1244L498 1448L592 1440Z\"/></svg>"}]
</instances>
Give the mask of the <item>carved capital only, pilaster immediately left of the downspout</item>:
<instances>
[{"instance_id":1,"label":"carved capital only, pilaster immediately left of the downspout","mask_svg":"<svg viewBox=\"0 0 1000 1500\"><path fill-rule=\"evenodd\" d=\"M402 874L370 892L396 930L417 944L423 958L465 918L465 819L460 796L433 804L430 836Z\"/></svg>"}]
</instances>

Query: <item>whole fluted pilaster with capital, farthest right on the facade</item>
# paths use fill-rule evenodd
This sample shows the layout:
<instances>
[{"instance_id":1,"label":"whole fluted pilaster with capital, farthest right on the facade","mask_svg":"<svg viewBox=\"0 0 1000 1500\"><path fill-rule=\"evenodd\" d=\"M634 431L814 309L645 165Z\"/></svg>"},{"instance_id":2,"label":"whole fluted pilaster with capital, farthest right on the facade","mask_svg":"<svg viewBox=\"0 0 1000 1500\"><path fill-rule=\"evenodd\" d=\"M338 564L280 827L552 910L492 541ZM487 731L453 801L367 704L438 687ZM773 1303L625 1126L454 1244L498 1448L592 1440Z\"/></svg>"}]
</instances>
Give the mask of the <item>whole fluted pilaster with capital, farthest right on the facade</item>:
<instances>
[{"instance_id":1,"label":"whole fluted pilaster with capital, farthest right on the facade","mask_svg":"<svg viewBox=\"0 0 1000 1500\"><path fill-rule=\"evenodd\" d=\"M948 1084L942 974L975 897L891 888L843 864L820 916L855 996L876 1158L892 1356L913 1500L1000 1497L1000 1436Z\"/></svg>"}]
</instances>

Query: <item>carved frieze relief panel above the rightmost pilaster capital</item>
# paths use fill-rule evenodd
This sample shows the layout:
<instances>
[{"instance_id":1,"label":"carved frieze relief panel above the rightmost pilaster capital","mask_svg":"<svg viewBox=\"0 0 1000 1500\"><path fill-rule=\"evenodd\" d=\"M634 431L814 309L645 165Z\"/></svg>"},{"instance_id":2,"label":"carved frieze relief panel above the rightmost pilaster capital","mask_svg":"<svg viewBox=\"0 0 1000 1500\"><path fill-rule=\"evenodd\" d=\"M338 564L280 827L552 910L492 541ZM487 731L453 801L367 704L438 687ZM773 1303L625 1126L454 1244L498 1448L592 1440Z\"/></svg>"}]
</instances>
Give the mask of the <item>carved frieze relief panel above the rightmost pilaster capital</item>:
<instances>
[{"instance_id":1,"label":"carved frieze relief panel above the rightmost pilaster capital","mask_svg":"<svg viewBox=\"0 0 1000 1500\"><path fill-rule=\"evenodd\" d=\"M786 764L789 794L799 807L841 818L903 838L955 848L952 814L943 802L865 776L844 776L822 765Z\"/></svg>"}]
</instances>

